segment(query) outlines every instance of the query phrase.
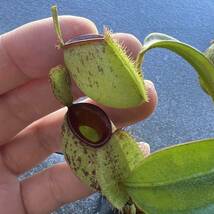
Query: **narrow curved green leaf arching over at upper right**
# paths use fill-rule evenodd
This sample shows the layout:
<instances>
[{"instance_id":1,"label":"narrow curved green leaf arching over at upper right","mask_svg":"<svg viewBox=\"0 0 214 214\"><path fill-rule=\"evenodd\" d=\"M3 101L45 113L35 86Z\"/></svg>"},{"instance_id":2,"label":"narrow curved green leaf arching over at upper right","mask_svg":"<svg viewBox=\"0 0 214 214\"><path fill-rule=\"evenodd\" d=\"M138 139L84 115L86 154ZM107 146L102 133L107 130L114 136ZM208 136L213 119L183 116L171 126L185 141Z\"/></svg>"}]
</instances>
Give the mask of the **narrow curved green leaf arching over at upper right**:
<instances>
[{"instance_id":1,"label":"narrow curved green leaf arching over at upper right","mask_svg":"<svg viewBox=\"0 0 214 214\"><path fill-rule=\"evenodd\" d=\"M214 100L214 65L202 52L168 35L152 33L144 40L143 49L137 59L138 66L144 54L152 48L167 48L188 61L197 71L202 88Z\"/></svg>"}]
</instances>

